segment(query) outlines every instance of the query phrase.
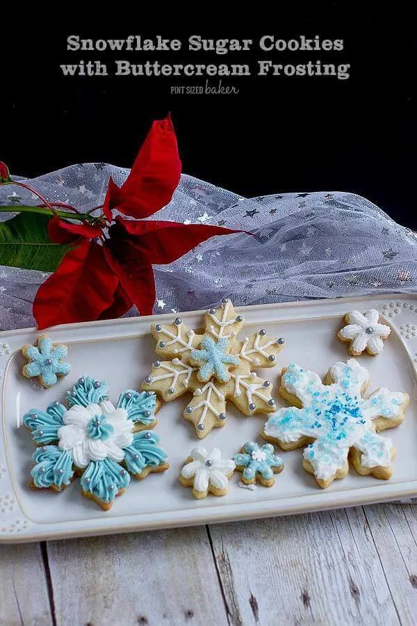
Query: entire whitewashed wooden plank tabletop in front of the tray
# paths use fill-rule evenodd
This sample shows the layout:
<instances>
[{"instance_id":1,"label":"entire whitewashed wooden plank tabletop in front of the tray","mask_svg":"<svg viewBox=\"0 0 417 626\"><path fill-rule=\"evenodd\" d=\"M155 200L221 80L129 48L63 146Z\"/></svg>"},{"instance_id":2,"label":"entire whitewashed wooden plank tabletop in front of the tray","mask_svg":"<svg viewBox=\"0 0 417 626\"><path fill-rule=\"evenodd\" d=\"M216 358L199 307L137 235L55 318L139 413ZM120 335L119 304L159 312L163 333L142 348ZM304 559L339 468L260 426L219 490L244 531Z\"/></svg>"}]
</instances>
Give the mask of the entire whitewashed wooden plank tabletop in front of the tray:
<instances>
[{"instance_id":1,"label":"entire whitewashed wooden plank tabletop in front of the tray","mask_svg":"<svg viewBox=\"0 0 417 626\"><path fill-rule=\"evenodd\" d=\"M414 625L415 502L0 545L0 623Z\"/></svg>"}]
</instances>

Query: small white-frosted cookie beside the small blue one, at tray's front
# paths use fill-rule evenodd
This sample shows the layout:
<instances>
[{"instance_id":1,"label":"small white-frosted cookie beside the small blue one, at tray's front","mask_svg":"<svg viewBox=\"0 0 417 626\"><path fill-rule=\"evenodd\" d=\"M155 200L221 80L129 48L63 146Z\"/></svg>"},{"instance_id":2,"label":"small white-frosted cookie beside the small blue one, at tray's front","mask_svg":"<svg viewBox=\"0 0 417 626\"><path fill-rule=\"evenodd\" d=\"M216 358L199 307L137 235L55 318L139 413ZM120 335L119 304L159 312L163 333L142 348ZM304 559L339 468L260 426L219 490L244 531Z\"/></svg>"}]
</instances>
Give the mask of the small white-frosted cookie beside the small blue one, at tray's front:
<instances>
[{"instance_id":1,"label":"small white-frosted cookie beside the small blue one, at tray's front","mask_svg":"<svg viewBox=\"0 0 417 626\"><path fill-rule=\"evenodd\" d=\"M181 469L179 482L184 487L193 487L193 496L197 499L207 497L208 493L222 496L227 494L234 469L234 461L222 459L218 448L210 451L194 448Z\"/></svg>"}]
</instances>

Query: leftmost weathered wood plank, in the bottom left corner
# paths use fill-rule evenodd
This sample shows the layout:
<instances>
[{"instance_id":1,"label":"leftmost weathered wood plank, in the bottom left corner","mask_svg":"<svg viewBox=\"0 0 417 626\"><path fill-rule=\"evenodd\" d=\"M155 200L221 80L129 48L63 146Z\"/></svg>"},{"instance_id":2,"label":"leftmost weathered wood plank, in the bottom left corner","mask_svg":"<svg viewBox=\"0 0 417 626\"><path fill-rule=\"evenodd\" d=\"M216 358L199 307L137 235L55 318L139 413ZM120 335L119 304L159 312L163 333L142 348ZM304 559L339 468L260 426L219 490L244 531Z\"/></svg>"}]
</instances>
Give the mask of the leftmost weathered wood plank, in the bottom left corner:
<instances>
[{"instance_id":1,"label":"leftmost weathered wood plank, in the bottom left corner","mask_svg":"<svg viewBox=\"0 0 417 626\"><path fill-rule=\"evenodd\" d=\"M40 544L0 545L0 624L52 624Z\"/></svg>"}]
</instances>

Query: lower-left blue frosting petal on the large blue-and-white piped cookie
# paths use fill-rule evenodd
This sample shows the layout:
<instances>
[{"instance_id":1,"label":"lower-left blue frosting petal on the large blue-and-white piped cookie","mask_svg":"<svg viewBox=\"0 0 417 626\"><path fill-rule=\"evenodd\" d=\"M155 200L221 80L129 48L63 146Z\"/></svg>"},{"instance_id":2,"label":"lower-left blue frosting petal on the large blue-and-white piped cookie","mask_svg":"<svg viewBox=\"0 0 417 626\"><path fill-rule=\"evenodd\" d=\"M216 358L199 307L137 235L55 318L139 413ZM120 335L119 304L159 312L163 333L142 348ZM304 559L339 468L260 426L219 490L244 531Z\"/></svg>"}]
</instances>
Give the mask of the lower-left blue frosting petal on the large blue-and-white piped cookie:
<instances>
[{"instance_id":1,"label":"lower-left blue frosting petal on the large blue-and-white piped cookie","mask_svg":"<svg viewBox=\"0 0 417 626\"><path fill-rule=\"evenodd\" d=\"M42 446L33 453L36 465L31 470L35 487L49 488L55 486L61 490L69 485L74 476L72 457L58 446Z\"/></svg>"}]
</instances>

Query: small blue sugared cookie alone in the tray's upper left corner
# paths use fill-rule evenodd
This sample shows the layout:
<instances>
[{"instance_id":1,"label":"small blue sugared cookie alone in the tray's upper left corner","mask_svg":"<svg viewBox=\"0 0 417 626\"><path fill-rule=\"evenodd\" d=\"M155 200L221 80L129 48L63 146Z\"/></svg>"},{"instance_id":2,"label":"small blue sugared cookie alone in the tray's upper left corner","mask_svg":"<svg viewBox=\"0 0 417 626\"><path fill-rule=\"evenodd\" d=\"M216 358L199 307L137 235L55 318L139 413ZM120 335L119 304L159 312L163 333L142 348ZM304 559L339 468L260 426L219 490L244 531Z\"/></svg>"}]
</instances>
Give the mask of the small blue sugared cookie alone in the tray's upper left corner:
<instances>
[{"instance_id":1,"label":"small blue sugared cookie alone in the tray's upper left corner","mask_svg":"<svg viewBox=\"0 0 417 626\"><path fill-rule=\"evenodd\" d=\"M52 345L47 335L38 337L35 346L23 346L22 355L28 360L23 366L22 374L26 378L37 377L42 387L52 387L61 376L70 374L70 363L63 361L68 354L64 344Z\"/></svg>"}]
</instances>

